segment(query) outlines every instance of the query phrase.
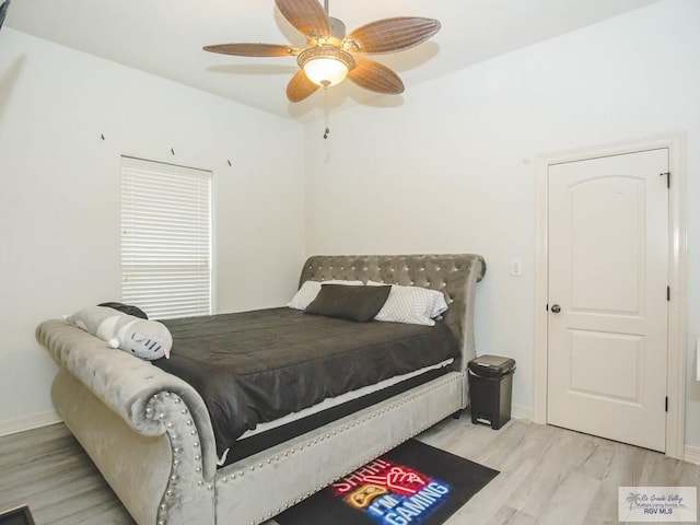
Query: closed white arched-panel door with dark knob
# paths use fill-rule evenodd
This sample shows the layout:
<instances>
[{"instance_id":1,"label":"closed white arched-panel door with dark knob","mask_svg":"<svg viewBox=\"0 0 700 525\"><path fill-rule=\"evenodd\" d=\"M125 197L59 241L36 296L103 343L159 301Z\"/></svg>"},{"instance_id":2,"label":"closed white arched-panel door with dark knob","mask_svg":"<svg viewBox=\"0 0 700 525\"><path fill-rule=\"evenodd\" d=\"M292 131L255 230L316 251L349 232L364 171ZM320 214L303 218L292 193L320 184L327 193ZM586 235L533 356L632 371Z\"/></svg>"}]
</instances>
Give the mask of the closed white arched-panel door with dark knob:
<instances>
[{"instance_id":1,"label":"closed white arched-panel door with dark knob","mask_svg":"<svg viewBox=\"0 0 700 525\"><path fill-rule=\"evenodd\" d=\"M547 422L664 452L668 150L549 166Z\"/></svg>"}]
</instances>

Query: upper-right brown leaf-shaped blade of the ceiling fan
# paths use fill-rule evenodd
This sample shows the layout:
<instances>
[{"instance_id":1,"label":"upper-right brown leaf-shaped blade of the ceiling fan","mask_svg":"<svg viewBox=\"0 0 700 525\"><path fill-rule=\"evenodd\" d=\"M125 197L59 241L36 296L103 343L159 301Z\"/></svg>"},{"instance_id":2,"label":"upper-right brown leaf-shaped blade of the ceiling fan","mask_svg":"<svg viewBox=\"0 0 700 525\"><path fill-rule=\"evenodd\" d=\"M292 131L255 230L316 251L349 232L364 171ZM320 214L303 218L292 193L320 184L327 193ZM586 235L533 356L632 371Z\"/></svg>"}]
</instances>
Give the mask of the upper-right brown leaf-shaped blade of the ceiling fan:
<instances>
[{"instance_id":1,"label":"upper-right brown leaf-shaped blade of the ceiling fan","mask_svg":"<svg viewBox=\"0 0 700 525\"><path fill-rule=\"evenodd\" d=\"M350 33L343 47L361 54L398 51L425 42L440 27L436 20L416 16L377 20Z\"/></svg>"}]
</instances>

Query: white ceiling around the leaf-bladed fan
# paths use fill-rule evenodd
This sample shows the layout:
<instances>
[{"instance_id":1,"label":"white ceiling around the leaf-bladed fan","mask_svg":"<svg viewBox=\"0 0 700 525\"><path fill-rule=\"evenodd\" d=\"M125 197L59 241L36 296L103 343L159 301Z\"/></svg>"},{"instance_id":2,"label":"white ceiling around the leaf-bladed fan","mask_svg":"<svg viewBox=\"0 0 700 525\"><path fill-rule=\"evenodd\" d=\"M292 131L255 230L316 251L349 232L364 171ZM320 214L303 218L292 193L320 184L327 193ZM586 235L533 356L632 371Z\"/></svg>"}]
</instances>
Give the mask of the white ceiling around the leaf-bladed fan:
<instances>
[{"instance_id":1,"label":"white ceiling around the leaf-bladed fan","mask_svg":"<svg viewBox=\"0 0 700 525\"><path fill-rule=\"evenodd\" d=\"M330 15L348 32L390 16L429 16L442 23L431 40L372 57L393 68L404 95L376 95L351 82L329 90L336 110L355 104L406 103L412 85L472 63L616 16L657 0L330 0ZM294 58L246 58L206 52L210 44L292 43L304 38L273 0L14 0L5 25L97 57L308 121L323 114L319 90L290 104Z\"/></svg>"}]
</instances>

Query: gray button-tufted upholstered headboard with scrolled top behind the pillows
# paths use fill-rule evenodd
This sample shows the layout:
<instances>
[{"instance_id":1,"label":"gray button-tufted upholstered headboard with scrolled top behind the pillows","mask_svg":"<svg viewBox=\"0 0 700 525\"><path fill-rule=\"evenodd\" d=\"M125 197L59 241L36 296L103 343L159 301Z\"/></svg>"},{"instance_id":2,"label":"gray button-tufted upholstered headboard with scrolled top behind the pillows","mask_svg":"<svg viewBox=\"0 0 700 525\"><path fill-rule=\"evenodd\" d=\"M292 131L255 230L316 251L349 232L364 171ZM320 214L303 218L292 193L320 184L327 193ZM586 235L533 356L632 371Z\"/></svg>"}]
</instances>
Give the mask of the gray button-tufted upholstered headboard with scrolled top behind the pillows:
<instances>
[{"instance_id":1,"label":"gray button-tufted upholstered headboard with scrolled top behind the pillows","mask_svg":"<svg viewBox=\"0 0 700 525\"><path fill-rule=\"evenodd\" d=\"M380 281L440 290L448 310L444 319L462 347L462 366L476 357L474 298L476 283L486 273L480 255L316 255L304 264L304 281L330 279Z\"/></svg>"}]
</instances>

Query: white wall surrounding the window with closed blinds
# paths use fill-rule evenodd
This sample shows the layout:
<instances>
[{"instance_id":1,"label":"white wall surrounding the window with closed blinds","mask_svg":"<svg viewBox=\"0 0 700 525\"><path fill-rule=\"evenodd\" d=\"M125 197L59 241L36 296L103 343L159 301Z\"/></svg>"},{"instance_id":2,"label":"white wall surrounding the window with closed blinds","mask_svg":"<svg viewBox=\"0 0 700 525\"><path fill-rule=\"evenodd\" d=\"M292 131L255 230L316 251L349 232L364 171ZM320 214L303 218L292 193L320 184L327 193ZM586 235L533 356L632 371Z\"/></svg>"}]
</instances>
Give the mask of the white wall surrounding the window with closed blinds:
<instances>
[{"instance_id":1,"label":"white wall surrounding the window with closed blinds","mask_svg":"<svg viewBox=\"0 0 700 525\"><path fill-rule=\"evenodd\" d=\"M119 299L121 154L213 171L217 310L226 312L283 304L295 289L303 135L299 124L3 27L0 434L52 417L55 365L35 326Z\"/></svg>"}]
</instances>

